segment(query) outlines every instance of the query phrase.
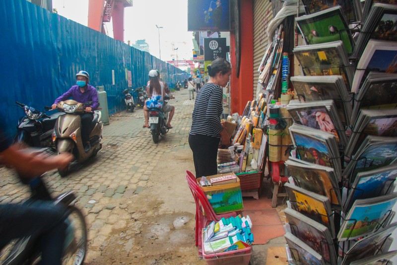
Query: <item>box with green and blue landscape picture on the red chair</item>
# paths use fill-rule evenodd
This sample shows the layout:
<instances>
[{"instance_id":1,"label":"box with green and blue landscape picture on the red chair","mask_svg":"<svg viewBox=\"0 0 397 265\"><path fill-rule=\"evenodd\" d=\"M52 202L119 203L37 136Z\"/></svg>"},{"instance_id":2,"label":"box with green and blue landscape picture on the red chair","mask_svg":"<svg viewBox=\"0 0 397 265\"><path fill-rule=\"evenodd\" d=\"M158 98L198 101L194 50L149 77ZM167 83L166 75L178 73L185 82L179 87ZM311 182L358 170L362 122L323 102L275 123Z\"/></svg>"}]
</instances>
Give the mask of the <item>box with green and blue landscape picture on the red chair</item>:
<instances>
[{"instance_id":1,"label":"box with green and blue landscape picture on the red chair","mask_svg":"<svg viewBox=\"0 0 397 265\"><path fill-rule=\"evenodd\" d=\"M229 174L230 173L220 175ZM207 178L214 176L208 176ZM201 177L197 179L198 183L200 183L200 179ZM237 182L234 183L207 187L200 186L200 188L204 191L216 214L243 210L243 196L241 194L240 179L238 177Z\"/></svg>"}]
</instances>

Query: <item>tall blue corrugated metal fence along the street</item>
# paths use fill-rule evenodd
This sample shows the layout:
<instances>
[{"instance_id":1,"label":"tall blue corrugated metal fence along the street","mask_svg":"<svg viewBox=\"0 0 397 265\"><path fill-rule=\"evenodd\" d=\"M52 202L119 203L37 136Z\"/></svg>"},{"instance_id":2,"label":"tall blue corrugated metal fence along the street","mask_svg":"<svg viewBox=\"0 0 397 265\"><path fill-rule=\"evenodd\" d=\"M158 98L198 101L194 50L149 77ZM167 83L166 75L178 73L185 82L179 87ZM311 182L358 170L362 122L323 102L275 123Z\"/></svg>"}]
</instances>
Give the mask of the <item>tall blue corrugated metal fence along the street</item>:
<instances>
[{"instance_id":1,"label":"tall blue corrugated metal fence along the street","mask_svg":"<svg viewBox=\"0 0 397 265\"><path fill-rule=\"evenodd\" d=\"M0 12L0 111L11 133L23 115L15 101L43 110L75 84L80 70L90 74L90 85L104 87L110 114L125 109L121 91L128 88L129 71L132 88L145 86L151 69L159 70L170 88L189 76L147 52L26 0L2 0Z\"/></svg>"}]
</instances>

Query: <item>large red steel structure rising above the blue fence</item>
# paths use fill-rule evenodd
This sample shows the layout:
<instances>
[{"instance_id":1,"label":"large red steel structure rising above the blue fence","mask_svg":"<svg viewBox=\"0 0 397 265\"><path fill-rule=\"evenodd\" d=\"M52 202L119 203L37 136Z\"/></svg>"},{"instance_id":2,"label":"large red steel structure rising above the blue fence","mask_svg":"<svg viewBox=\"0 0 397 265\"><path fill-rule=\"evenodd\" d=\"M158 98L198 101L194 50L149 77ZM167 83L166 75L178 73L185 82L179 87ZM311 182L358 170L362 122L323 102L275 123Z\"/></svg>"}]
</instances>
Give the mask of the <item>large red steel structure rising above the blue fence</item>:
<instances>
[{"instance_id":1,"label":"large red steel structure rising above the blue fence","mask_svg":"<svg viewBox=\"0 0 397 265\"><path fill-rule=\"evenodd\" d=\"M124 8L132 0L89 0L88 27L106 34L104 23L113 21L113 38L124 42Z\"/></svg>"}]
</instances>

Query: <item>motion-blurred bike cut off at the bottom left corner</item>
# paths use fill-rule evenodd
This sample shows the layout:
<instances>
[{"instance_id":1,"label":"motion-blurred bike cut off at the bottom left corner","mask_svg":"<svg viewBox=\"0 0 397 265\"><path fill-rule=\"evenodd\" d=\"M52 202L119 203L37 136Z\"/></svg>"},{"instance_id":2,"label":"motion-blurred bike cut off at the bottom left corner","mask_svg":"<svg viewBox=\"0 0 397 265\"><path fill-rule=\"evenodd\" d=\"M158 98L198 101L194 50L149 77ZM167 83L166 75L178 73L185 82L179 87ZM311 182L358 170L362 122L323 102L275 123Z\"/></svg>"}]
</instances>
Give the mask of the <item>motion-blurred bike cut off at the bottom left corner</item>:
<instances>
[{"instance_id":1,"label":"motion-blurred bike cut off at the bottom left corner","mask_svg":"<svg viewBox=\"0 0 397 265\"><path fill-rule=\"evenodd\" d=\"M28 183L26 179L21 180L25 184ZM80 209L74 206L76 195L72 191L68 191L52 198L40 177L33 180L29 179L29 185L31 196L25 204L36 200L51 200L54 204L62 204L67 208L68 217L65 220L67 228L62 264L82 265L87 252L87 227L84 215ZM35 234L11 241L0 252L0 264L38 264L41 255L38 248L40 240L40 235Z\"/></svg>"}]
</instances>

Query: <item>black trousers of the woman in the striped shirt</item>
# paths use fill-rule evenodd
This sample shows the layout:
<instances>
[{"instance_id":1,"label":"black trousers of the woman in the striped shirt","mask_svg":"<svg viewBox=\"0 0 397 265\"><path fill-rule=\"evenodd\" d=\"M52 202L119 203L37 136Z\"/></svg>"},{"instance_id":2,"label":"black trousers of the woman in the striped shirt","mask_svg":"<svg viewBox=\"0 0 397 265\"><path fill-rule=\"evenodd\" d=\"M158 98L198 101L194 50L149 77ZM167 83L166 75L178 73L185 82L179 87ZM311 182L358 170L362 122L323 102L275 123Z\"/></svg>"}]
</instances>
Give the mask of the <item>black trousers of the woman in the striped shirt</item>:
<instances>
[{"instance_id":1,"label":"black trousers of the woman in the striped shirt","mask_svg":"<svg viewBox=\"0 0 397 265\"><path fill-rule=\"evenodd\" d=\"M190 149L193 151L196 178L218 173L216 158L220 138L207 135L189 135Z\"/></svg>"}]
</instances>

